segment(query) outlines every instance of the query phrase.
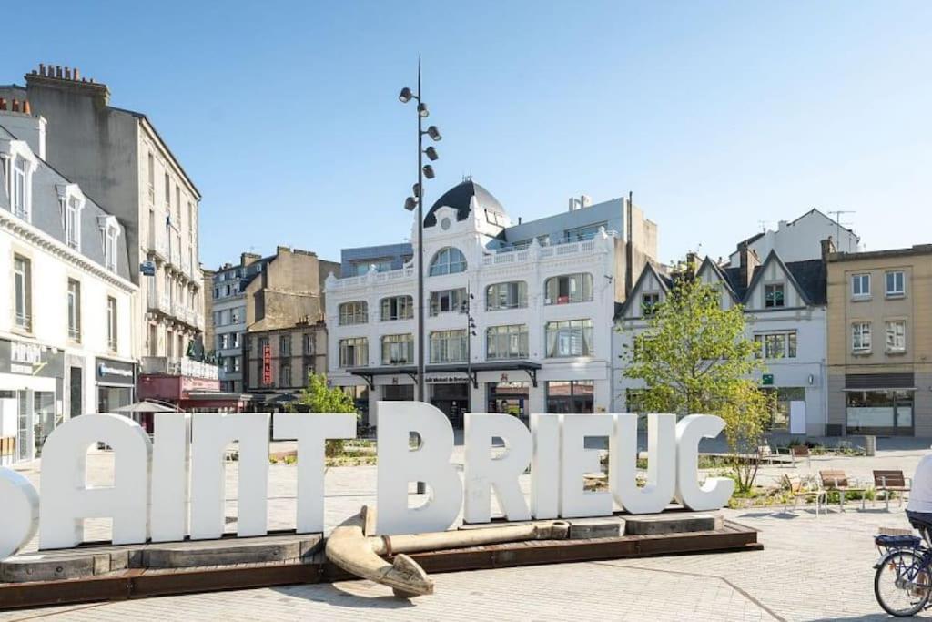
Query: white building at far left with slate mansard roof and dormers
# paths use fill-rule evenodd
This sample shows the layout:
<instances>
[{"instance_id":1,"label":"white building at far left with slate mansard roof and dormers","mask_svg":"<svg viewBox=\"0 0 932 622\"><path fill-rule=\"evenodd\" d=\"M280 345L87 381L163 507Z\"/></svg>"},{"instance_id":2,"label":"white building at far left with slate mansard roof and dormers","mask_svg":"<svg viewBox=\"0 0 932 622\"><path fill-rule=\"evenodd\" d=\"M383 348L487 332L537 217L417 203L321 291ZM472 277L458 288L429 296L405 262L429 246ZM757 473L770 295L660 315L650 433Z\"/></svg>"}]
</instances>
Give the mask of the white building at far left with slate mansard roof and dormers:
<instances>
[{"instance_id":1,"label":"white building at far left with slate mansard roof and dormers","mask_svg":"<svg viewBox=\"0 0 932 622\"><path fill-rule=\"evenodd\" d=\"M0 97L0 464L134 399L126 230L47 163L47 122Z\"/></svg>"}]
</instances>

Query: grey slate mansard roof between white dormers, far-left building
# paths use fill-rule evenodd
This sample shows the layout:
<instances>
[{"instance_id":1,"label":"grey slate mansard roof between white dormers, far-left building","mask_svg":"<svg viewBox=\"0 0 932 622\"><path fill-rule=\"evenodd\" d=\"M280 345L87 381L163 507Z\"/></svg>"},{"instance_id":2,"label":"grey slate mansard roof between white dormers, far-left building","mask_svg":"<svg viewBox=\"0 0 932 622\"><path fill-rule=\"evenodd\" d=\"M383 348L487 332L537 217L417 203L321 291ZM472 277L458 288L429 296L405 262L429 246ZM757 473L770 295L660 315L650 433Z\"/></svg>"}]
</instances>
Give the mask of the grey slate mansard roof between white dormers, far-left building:
<instances>
[{"instance_id":1,"label":"grey slate mansard roof between white dormers, far-left building","mask_svg":"<svg viewBox=\"0 0 932 622\"><path fill-rule=\"evenodd\" d=\"M17 140L10 131L0 125L0 139ZM62 209L59 202L57 186L65 186L72 182L62 173L59 173L43 159L39 159L39 166L33 173L33 210L31 214L32 225L62 243L67 243L62 223ZM2 173L0 173L2 176ZM3 184L3 188L7 185ZM110 216L97 203L85 195L86 202L81 210L81 255L106 269L103 256L103 240L98 217ZM9 197L6 189L0 190L0 208L10 209ZM118 222L118 221L117 221ZM117 275L130 281L130 254L127 250L126 228L118 222L120 233L117 237Z\"/></svg>"}]
</instances>

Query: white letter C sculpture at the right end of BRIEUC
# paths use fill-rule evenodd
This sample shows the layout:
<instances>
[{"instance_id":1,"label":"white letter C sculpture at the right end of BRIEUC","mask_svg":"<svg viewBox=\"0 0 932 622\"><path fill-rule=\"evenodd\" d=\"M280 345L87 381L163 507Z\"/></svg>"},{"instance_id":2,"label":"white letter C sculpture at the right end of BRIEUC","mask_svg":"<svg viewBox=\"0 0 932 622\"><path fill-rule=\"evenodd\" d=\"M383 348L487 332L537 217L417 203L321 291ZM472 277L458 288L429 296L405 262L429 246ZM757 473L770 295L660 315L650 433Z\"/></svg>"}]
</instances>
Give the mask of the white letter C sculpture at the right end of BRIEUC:
<instances>
[{"instance_id":1,"label":"white letter C sculpture at the right end of BRIEUC","mask_svg":"<svg viewBox=\"0 0 932 622\"><path fill-rule=\"evenodd\" d=\"M706 477L699 486L699 441L715 438L724 427L715 415L687 415L677 423L677 501L691 510L717 510L734 491L729 477Z\"/></svg>"}]
</instances>

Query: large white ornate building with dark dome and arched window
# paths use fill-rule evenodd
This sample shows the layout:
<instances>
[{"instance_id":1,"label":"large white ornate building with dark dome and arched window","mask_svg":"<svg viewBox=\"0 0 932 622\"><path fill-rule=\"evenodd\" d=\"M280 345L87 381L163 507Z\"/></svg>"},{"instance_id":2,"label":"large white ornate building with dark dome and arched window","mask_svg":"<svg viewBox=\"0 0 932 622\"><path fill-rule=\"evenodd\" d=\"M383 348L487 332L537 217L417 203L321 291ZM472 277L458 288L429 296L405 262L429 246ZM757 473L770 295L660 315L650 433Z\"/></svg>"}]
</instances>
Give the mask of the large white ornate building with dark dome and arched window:
<instances>
[{"instance_id":1,"label":"large white ornate building with dark dome and arched window","mask_svg":"<svg viewBox=\"0 0 932 622\"><path fill-rule=\"evenodd\" d=\"M454 424L470 410L610 411L625 207L610 200L513 225L472 181L437 200L424 219L426 401ZM651 234L633 242L642 262L656 255L656 228L637 218ZM417 283L413 262L325 283L329 380L372 424L378 400L415 399Z\"/></svg>"}]
</instances>

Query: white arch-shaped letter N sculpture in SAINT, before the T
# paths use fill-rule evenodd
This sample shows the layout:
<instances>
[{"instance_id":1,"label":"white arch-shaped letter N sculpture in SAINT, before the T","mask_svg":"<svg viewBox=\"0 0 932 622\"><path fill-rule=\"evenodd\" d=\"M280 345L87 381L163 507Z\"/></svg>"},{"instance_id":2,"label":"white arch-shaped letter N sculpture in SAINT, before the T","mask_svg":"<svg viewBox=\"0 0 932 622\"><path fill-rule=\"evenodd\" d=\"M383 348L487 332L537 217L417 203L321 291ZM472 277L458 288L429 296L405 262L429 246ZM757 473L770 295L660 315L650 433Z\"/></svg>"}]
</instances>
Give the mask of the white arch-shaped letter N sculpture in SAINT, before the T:
<instances>
[{"instance_id":1,"label":"white arch-shaped letter N sculpture in SAINT, before the T","mask_svg":"<svg viewBox=\"0 0 932 622\"><path fill-rule=\"evenodd\" d=\"M265 535L268 505L268 413L194 414L191 447L191 539L224 533L226 446L240 442L237 535Z\"/></svg>"}]
</instances>

